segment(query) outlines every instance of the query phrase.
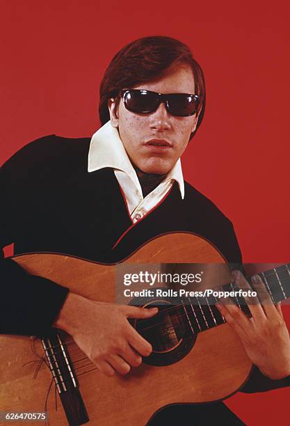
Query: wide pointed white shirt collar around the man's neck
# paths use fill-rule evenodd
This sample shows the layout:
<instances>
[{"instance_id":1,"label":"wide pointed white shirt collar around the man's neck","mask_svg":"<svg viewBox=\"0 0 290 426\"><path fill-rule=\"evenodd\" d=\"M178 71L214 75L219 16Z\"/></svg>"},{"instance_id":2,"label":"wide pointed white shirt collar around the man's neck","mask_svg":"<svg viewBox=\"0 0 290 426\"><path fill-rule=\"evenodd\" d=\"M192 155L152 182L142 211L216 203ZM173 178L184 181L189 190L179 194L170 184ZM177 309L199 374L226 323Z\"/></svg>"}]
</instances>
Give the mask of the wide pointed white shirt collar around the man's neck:
<instances>
[{"instance_id":1,"label":"wide pointed white shirt collar around the man's neck","mask_svg":"<svg viewBox=\"0 0 290 426\"><path fill-rule=\"evenodd\" d=\"M105 167L114 168L126 173L142 194L136 171L124 149L119 132L111 125L111 121L108 121L108 123L92 135L88 152L89 173ZM184 199L184 178L180 159L177 160L175 166L167 173L163 182L166 180L175 180L178 183L180 194L182 199Z\"/></svg>"}]
</instances>

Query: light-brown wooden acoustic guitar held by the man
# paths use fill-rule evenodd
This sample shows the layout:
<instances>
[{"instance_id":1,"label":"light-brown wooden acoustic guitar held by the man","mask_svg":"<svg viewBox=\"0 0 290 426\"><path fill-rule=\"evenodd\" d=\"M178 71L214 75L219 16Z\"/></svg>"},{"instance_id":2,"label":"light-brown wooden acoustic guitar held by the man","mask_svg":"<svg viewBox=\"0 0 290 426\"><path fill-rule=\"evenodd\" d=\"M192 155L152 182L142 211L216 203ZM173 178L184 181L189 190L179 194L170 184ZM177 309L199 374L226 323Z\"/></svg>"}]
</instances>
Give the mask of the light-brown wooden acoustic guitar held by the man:
<instances>
[{"instance_id":1,"label":"light-brown wooden acoustic guitar held by the man","mask_svg":"<svg viewBox=\"0 0 290 426\"><path fill-rule=\"evenodd\" d=\"M83 297L115 303L116 265L56 253L17 255L13 260L30 274ZM220 265L229 280L225 286L232 286L223 256L191 233L157 237L124 260L122 267L168 263ZM261 276L273 301L290 297L289 264ZM172 306L164 299L149 322L132 322L152 343L153 352L125 376L103 376L72 338L58 330L44 339L1 336L0 411L47 411L49 424L56 426L87 422L136 426L146 425L168 404L213 402L232 395L245 384L252 364L214 302L208 306L192 302Z\"/></svg>"}]
</instances>

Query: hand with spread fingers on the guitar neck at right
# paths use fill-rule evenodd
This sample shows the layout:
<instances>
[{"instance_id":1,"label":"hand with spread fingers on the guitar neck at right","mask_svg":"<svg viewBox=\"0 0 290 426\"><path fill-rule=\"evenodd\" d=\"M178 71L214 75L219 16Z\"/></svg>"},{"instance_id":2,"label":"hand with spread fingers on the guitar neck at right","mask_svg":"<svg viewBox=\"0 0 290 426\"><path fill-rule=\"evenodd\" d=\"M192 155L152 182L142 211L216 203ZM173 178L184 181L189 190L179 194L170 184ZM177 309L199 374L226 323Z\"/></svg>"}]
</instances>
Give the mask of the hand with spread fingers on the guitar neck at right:
<instances>
[{"instance_id":1,"label":"hand with spread fingers on the guitar neck at right","mask_svg":"<svg viewBox=\"0 0 290 426\"><path fill-rule=\"evenodd\" d=\"M240 271L233 276L239 288L252 290ZM261 301L248 299L252 317L234 304L217 303L216 307L238 334L252 363L270 379L283 379L290 374L290 339L281 306L273 303L259 275L252 277L252 285Z\"/></svg>"}]
</instances>

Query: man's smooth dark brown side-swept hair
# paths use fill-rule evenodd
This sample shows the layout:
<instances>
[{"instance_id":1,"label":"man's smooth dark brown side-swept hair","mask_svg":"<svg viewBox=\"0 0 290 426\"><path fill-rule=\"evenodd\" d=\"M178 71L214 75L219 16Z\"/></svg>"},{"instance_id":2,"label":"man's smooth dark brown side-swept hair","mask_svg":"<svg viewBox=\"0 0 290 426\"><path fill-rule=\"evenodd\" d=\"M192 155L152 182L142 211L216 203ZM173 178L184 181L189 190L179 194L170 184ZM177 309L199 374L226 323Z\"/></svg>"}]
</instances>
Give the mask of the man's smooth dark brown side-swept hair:
<instances>
[{"instance_id":1,"label":"man's smooth dark brown side-swept hair","mask_svg":"<svg viewBox=\"0 0 290 426\"><path fill-rule=\"evenodd\" d=\"M111 97L118 97L123 88L132 88L160 77L167 68L178 63L186 63L191 67L195 81L195 95L201 97L196 132L202 122L205 109L204 74L184 43L165 36L139 38L115 54L99 88L99 118L102 125L110 120L108 100ZM119 101L120 98L117 102ZM191 138L195 132L191 134Z\"/></svg>"}]
</instances>

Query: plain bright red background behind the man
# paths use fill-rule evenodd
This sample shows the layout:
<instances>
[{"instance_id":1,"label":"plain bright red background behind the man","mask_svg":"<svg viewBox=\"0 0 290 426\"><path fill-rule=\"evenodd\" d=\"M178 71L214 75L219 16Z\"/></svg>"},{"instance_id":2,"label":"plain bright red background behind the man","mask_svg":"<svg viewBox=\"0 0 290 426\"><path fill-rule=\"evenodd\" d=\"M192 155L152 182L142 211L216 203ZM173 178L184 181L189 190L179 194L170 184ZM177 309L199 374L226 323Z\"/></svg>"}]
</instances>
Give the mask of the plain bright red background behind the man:
<instances>
[{"instance_id":1,"label":"plain bright red background behind the man","mask_svg":"<svg viewBox=\"0 0 290 426\"><path fill-rule=\"evenodd\" d=\"M90 136L113 54L141 36L179 38L207 81L184 176L233 221L245 262L289 262L287 1L141 3L1 1L0 162L45 134ZM288 425L289 397L236 394L227 404L248 425Z\"/></svg>"}]
</instances>

